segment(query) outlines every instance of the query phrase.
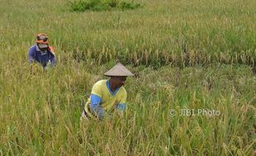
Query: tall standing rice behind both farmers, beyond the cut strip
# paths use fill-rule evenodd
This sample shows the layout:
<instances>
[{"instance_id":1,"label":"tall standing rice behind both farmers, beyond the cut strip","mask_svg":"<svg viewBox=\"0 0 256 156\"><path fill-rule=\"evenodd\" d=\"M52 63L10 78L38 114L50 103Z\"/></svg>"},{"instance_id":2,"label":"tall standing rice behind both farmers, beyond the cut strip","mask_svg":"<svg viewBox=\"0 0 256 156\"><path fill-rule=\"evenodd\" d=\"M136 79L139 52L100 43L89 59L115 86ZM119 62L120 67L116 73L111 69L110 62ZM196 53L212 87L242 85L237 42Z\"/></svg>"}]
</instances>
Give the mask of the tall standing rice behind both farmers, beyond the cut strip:
<instances>
[{"instance_id":1,"label":"tall standing rice behind both farmers, beyond the cut strip","mask_svg":"<svg viewBox=\"0 0 256 156\"><path fill-rule=\"evenodd\" d=\"M44 31L59 50L73 52L76 57L77 51L83 53L87 57L80 58L83 61L102 56L105 63L123 55L124 62L148 66L255 65L254 1L136 2L145 7L83 13L70 12L63 1L38 5L22 0L10 7L2 2L1 29L7 46L32 44L31 36ZM93 56L87 55L90 52Z\"/></svg>"}]
</instances>

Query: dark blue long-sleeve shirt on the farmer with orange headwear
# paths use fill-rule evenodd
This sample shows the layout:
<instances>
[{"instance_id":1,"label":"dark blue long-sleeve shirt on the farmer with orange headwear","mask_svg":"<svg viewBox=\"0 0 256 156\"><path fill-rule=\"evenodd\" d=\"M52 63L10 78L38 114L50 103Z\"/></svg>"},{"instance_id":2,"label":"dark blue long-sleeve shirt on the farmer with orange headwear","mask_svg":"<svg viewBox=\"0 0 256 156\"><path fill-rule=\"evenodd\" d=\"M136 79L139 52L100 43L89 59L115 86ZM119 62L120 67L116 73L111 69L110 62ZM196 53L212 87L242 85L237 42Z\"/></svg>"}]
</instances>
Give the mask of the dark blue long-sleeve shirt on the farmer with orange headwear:
<instances>
[{"instance_id":1,"label":"dark blue long-sleeve shirt on the farmer with orange headwear","mask_svg":"<svg viewBox=\"0 0 256 156\"><path fill-rule=\"evenodd\" d=\"M55 65L55 53L52 49L47 49L45 52L41 51L37 45L33 45L28 52L29 62L39 62L43 67L46 67L47 63Z\"/></svg>"}]
</instances>

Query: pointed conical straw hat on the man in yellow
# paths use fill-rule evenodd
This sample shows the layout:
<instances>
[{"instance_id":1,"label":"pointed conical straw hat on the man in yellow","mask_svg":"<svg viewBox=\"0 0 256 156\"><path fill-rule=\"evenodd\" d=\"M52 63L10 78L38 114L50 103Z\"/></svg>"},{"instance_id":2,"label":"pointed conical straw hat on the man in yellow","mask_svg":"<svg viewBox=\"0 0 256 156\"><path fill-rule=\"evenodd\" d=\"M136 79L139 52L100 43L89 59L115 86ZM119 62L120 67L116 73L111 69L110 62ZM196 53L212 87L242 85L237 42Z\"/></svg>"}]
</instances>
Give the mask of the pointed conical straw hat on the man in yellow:
<instances>
[{"instance_id":1,"label":"pointed conical straw hat on the man in yellow","mask_svg":"<svg viewBox=\"0 0 256 156\"><path fill-rule=\"evenodd\" d=\"M134 76L120 62L117 62L116 66L112 67L111 70L105 72L104 75L105 76Z\"/></svg>"}]
</instances>

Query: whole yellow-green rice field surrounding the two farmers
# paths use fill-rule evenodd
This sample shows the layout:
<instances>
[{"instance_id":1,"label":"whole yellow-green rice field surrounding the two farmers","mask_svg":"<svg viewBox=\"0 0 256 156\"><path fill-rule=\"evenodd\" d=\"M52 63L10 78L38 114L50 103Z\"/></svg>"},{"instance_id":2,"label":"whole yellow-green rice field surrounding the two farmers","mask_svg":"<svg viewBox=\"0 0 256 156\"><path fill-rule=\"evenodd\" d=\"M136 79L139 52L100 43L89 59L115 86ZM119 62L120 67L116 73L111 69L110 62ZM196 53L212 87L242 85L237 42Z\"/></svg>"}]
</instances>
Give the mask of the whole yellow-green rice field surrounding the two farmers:
<instances>
[{"instance_id":1,"label":"whole yellow-green rice field surrounding the two farmers","mask_svg":"<svg viewBox=\"0 0 256 156\"><path fill-rule=\"evenodd\" d=\"M140 0L129 11L70 11L68 1L0 1L0 155L254 155L254 0ZM36 34L58 66L30 67ZM79 117L116 59L128 110ZM166 65L166 66L164 66ZM218 117L170 116L214 109Z\"/></svg>"}]
</instances>

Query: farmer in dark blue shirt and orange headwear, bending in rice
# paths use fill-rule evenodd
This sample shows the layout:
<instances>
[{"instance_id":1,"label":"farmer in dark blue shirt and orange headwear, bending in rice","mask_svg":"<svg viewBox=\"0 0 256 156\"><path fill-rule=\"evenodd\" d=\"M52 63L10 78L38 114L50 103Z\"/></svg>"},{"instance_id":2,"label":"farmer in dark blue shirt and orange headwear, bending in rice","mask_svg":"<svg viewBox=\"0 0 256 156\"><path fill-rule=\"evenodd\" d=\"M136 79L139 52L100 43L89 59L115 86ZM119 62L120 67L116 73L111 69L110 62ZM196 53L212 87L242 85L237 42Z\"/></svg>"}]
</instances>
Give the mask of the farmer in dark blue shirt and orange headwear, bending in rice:
<instances>
[{"instance_id":1,"label":"farmer in dark blue shirt and orange headwear, bending in rice","mask_svg":"<svg viewBox=\"0 0 256 156\"><path fill-rule=\"evenodd\" d=\"M55 53L53 48L49 46L46 34L36 35L36 45L29 49L28 59L30 63L39 62L44 69L47 65L55 65Z\"/></svg>"}]
</instances>

